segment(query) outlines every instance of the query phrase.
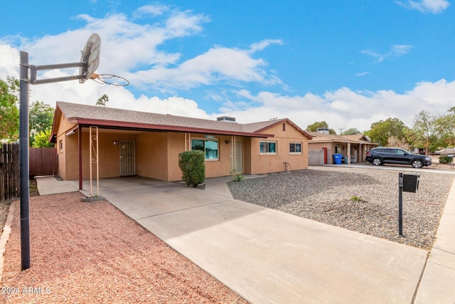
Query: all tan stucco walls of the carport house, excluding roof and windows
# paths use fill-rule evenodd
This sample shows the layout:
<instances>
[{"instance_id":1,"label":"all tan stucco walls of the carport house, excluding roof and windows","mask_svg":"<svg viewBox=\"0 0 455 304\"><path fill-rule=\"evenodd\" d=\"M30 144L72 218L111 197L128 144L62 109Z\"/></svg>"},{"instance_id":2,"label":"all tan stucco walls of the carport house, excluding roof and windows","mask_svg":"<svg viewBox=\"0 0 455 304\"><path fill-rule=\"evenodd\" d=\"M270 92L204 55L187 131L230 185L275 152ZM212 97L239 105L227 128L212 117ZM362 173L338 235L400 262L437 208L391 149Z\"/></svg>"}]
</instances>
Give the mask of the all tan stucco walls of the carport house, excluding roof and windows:
<instances>
[{"instance_id":1,"label":"all tan stucco walls of the carport house, excluding roof and windows","mask_svg":"<svg viewBox=\"0 0 455 304\"><path fill-rule=\"evenodd\" d=\"M79 179L78 134L65 136L75 124L60 119L57 134L57 145L63 142L63 150L58 149L59 175L63 179ZM92 129L92 132L94 132ZM184 132L128 132L125 130L99 129L97 137L99 156L99 177L120 176L121 145L114 142L133 140L135 142L136 174L165 181L181 180L178 167L178 154L191 149L191 139L218 140L218 159L205 160L205 177L222 177L232 171L232 141L242 142L242 174L263 174L267 172L284 172L287 170L308 168L308 138L289 123L280 123L264 130L266 134L274 134L269 140L277 142L276 154L260 154L260 138L232 137L229 135L210 135ZM90 161L89 128L83 127L82 132L82 179L96 177L96 164ZM95 133L92 133L95 135ZM301 143L301 153L289 152L291 142ZM94 142L96 144L96 142ZM92 155L95 157L95 154ZM287 163L287 167L285 164Z\"/></svg>"}]
</instances>

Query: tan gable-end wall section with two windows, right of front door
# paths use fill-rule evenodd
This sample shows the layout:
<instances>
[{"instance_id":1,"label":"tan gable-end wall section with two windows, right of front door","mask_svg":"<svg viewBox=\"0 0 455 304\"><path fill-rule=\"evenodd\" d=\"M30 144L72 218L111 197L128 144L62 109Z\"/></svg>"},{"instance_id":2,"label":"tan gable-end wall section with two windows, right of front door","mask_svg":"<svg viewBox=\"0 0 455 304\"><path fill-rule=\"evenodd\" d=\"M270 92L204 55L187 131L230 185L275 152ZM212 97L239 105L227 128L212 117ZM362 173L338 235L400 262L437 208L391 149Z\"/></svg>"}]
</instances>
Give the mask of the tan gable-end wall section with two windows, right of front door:
<instances>
[{"instance_id":1,"label":"tan gable-end wall section with two windows, right of front door","mask_svg":"<svg viewBox=\"0 0 455 304\"><path fill-rule=\"evenodd\" d=\"M268 138L267 141L277 142L277 153L261 154L259 145L263 139L252 138L250 174L284 172L286 170L285 162L289 164L287 170L308 169L308 137L287 122L269 127L264 130L264 133L275 135ZM302 152L300 154L289 152L291 142L301 142Z\"/></svg>"}]
</instances>

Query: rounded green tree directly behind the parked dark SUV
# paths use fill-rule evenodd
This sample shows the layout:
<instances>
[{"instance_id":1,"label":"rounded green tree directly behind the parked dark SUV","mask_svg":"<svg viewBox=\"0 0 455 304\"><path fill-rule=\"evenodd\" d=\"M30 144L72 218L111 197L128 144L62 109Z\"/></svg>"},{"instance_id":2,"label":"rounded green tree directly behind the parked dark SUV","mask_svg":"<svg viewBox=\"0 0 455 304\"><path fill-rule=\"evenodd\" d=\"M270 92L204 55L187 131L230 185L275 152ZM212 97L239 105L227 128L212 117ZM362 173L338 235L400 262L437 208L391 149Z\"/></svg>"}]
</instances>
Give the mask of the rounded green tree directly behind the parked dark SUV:
<instances>
[{"instance_id":1,"label":"rounded green tree directly behind the parked dark SUV","mask_svg":"<svg viewBox=\"0 0 455 304\"><path fill-rule=\"evenodd\" d=\"M405 137L407 127L404 122L398 118L387 118L373 122L368 136L372 142L379 142L381 146L387 146L389 137L396 137L397 140L402 140Z\"/></svg>"}]
</instances>

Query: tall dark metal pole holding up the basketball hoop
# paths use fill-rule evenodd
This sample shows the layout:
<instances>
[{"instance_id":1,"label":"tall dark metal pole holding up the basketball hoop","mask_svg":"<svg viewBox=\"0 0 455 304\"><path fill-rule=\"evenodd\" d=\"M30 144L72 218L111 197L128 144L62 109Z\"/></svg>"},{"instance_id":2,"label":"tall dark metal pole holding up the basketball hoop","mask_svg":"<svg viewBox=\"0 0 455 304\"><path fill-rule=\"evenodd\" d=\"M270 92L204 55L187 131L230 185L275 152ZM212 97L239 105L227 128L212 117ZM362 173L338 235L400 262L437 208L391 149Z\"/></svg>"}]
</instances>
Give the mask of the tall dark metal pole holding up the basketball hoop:
<instances>
[{"instance_id":1,"label":"tall dark metal pole holding up the basketball hoop","mask_svg":"<svg viewBox=\"0 0 455 304\"><path fill-rule=\"evenodd\" d=\"M21 178L21 269L30 268L28 184L28 53L21 51L19 96L19 168Z\"/></svg>"}]
</instances>

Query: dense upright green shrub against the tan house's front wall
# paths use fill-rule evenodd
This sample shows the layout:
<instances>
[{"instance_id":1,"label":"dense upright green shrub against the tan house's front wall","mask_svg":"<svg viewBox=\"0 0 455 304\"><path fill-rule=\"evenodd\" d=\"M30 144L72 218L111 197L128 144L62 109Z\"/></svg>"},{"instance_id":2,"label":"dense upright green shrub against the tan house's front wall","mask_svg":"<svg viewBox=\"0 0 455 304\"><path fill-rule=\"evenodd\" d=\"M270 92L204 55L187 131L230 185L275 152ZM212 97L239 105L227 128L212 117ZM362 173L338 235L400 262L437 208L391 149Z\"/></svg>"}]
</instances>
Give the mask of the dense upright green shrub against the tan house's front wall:
<instances>
[{"instance_id":1,"label":"dense upright green shrub against the tan house's front wall","mask_svg":"<svg viewBox=\"0 0 455 304\"><path fill-rule=\"evenodd\" d=\"M205 155L200 150L185 151L178 154L178 167L182 170L183 182L196 187L205 181Z\"/></svg>"}]
</instances>

